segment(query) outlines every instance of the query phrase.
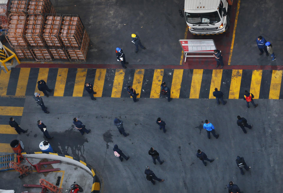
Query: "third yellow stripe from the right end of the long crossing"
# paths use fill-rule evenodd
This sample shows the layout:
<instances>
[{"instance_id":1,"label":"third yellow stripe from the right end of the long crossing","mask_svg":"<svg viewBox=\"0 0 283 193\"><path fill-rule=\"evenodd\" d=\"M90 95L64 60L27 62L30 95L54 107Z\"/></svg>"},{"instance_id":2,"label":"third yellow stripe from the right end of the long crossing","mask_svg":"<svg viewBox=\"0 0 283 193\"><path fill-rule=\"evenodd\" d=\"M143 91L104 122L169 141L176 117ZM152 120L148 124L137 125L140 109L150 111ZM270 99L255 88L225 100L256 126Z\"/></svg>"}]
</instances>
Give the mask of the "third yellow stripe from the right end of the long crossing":
<instances>
[{"instance_id":1,"label":"third yellow stripe from the right end of the long crossing","mask_svg":"<svg viewBox=\"0 0 283 193\"><path fill-rule=\"evenodd\" d=\"M243 70L232 70L229 98L238 99Z\"/></svg>"}]
</instances>

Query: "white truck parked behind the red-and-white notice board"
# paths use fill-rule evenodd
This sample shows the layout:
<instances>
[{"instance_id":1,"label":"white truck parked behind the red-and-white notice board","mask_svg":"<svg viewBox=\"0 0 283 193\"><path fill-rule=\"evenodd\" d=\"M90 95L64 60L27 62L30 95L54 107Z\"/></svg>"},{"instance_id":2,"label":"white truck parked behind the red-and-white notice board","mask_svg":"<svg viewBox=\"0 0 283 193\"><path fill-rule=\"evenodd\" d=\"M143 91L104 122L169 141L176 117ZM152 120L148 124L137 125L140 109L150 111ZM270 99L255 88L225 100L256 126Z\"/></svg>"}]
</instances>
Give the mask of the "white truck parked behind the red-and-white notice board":
<instances>
[{"instance_id":1,"label":"white truck parked behind the red-and-white notice board","mask_svg":"<svg viewBox=\"0 0 283 193\"><path fill-rule=\"evenodd\" d=\"M190 33L224 33L230 25L227 0L185 0L184 12Z\"/></svg>"}]
</instances>

